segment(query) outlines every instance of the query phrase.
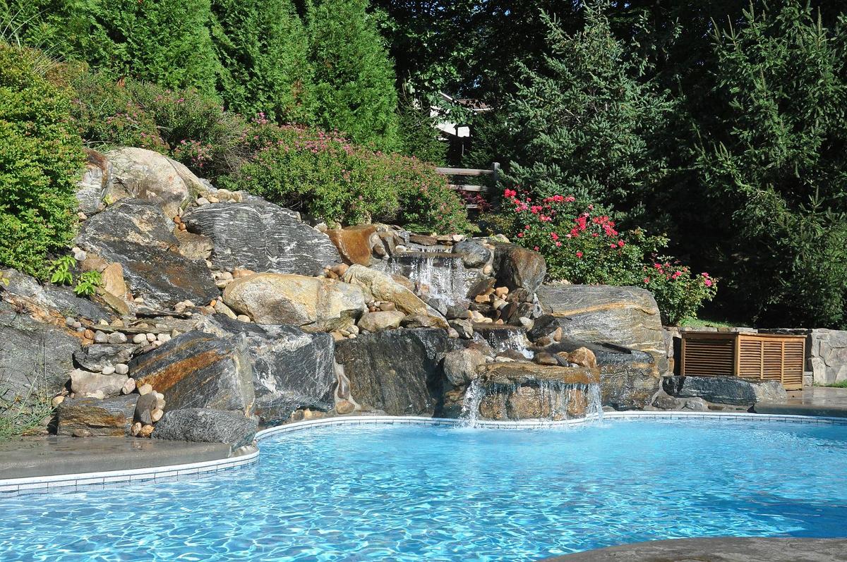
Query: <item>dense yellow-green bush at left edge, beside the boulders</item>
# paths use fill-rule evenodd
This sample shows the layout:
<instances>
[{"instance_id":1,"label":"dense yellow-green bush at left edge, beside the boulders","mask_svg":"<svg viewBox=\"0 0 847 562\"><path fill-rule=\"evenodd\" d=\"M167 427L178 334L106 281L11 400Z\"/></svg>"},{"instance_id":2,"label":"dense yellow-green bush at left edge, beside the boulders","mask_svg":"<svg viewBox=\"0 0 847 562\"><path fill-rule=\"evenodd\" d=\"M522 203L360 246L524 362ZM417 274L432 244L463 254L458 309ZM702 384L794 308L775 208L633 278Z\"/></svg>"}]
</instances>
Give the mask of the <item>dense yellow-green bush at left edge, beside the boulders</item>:
<instances>
[{"instance_id":1,"label":"dense yellow-green bush at left edge, beside the boulders","mask_svg":"<svg viewBox=\"0 0 847 562\"><path fill-rule=\"evenodd\" d=\"M0 263L42 278L47 254L74 236L84 163L68 92L45 64L0 42Z\"/></svg>"}]
</instances>

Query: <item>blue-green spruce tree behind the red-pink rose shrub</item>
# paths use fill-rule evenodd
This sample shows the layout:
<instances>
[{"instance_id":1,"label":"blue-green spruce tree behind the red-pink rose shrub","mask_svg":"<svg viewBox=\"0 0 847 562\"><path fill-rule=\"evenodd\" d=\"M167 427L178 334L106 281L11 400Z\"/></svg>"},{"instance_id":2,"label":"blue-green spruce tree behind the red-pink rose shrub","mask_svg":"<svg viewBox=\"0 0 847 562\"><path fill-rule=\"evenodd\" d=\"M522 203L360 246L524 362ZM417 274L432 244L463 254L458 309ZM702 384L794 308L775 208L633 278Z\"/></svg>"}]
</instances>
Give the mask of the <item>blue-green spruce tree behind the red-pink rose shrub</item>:
<instances>
[{"instance_id":1,"label":"blue-green spruce tree behind the red-pink rose shrub","mask_svg":"<svg viewBox=\"0 0 847 562\"><path fill-rule=\"evenodd\" d=\"M509 175L538 196L637 209L667 174L659 139L673 102L641 80L606 16L586 9L584 30L572 35L546 18L544 63L521 65L503 118L514 148Z\"/></svg>"}]
</instances>

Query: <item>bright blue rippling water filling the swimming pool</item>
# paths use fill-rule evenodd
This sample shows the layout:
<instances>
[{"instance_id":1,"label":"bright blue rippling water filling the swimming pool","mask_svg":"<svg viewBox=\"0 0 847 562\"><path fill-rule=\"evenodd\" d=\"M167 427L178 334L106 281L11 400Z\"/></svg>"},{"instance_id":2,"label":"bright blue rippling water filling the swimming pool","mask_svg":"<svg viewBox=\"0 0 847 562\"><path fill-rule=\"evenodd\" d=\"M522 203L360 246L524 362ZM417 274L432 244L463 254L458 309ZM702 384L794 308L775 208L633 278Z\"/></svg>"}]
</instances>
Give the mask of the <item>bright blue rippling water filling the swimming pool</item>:
<instances>
[{"instance_id":1,"label":"bright blue rippling water filling the swimming pool","mask_svg":"<svg viewBox=\"0 0 847 562\"><path fill-rule=\"evenodd\" d=\"M519 561L672 537L847 537L847 427L336 426L257 466L0 498L0 560Z\"/></svg>"}]
</instances>

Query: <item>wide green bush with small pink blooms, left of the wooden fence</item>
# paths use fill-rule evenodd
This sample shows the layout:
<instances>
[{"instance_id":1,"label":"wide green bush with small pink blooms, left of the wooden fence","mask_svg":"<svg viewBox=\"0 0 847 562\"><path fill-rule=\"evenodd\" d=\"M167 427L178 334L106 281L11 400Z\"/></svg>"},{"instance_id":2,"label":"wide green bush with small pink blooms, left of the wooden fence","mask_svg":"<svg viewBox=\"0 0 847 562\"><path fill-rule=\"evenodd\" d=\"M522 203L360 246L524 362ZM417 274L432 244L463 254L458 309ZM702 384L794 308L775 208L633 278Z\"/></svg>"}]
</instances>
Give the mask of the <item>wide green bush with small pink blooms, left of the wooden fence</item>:
<instances>
[{"instance_id":1,"label":"wide green bush with small pink blooms, left of the wooden fence","mask_svg":"<svg viewBox=\"0 0 847 562\"><path fill-rule=\"evenodd\" d=\"M468 227L457 195L430 164L293 125L257 125L247 138L253 156L219 185L330 223L400 218L429 229Z\"/></svg>"}]
</instances>

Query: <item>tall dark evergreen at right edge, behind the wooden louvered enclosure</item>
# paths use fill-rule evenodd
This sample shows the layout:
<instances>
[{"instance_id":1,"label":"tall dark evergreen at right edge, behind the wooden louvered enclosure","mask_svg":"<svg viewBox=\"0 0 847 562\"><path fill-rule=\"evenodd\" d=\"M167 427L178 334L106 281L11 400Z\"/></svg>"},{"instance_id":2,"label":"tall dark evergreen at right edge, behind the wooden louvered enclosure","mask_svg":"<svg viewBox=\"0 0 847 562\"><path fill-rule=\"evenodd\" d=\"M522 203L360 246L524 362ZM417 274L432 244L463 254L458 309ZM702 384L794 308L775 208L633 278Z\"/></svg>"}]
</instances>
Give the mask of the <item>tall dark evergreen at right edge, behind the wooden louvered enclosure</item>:
<instances>
[{"instance_id":1,"label":"tall dark evergreen at right edge, behind the wooden louvered enclosure","mask_svg":"<svg viewBox=\"0 0 847 562\"><path fill-rule=\"evenodd\" d=\"M696 171L734 299L765 324L844 325L847 21L796 0L715 36ZM711 212L708 212L711 211Z\"/></svg>"}]
</instances>

